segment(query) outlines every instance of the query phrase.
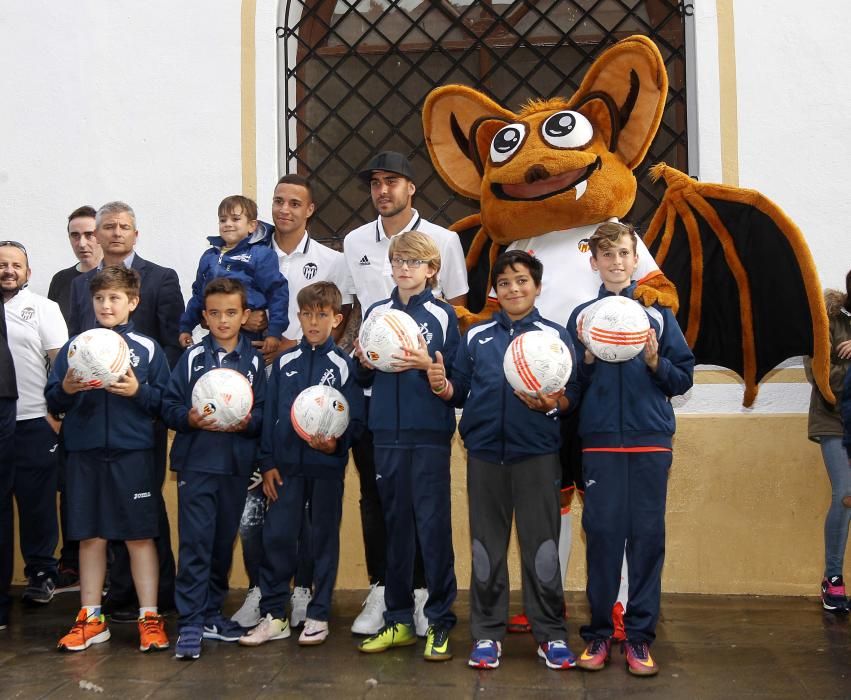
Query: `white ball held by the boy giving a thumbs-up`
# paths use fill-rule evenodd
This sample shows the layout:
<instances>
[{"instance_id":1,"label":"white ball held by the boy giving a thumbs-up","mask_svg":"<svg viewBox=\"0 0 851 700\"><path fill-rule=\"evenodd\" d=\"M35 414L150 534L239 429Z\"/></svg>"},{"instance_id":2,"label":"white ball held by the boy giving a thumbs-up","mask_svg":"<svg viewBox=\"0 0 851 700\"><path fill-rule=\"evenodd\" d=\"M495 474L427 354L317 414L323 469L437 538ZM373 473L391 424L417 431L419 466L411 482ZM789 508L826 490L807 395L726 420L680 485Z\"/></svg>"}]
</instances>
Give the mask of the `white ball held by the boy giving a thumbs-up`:
<instances>
[{"instance_id":1,"label":"white ball held by the boy giving a thumbs-up","mask_svg":"<svg viewBox=\"0 0 851 700\"><path fill-rule=\"evenodd\" d=\"M529 331L511 341L502 361L505 378L515 391L550 394L567 384L573 359L557 335Z\"/></svg>"}]
</instances>

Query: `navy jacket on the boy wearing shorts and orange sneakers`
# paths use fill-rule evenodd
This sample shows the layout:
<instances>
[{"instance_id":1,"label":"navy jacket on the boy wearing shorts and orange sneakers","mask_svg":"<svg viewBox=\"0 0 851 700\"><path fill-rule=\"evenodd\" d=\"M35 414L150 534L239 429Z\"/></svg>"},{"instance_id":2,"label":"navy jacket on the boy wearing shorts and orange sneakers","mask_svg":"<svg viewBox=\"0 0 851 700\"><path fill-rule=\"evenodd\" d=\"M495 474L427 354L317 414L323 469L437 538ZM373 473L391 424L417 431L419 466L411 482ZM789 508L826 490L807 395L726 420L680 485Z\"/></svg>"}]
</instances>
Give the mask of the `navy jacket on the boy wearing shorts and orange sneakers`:
<instances>
[{"instance_id":1,"label":"navy jacket on the boy wearing shorts and orange sneakers","mask_svg":"<svg viewBox=\"0 0 851 700\"><path fill-rule=\"evenodd\" d=\"M115 326L130 348L130 366L139 382L135 396L116 396L105 389L66 394L62 382L68 373L71 338L56 355L44 388L47 408L65 414L62 438L69 452L84 450L148 450L154 447L154 420L168 384L168 360L153 338L133 330L133 324Z\"/></svg>"}]
</instances>

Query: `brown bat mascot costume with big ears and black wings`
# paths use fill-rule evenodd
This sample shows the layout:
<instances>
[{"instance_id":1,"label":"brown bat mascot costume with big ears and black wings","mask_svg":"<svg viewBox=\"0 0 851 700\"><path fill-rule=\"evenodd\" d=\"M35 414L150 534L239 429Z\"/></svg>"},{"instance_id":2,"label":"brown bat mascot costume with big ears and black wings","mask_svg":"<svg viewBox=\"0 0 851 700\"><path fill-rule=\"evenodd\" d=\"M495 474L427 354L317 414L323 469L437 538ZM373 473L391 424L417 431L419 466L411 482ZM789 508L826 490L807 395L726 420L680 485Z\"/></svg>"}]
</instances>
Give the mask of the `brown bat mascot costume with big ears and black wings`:
<instances>
[{"instance_id":1,"label":"brown bat mascot costume with big ears and black wings","mask_svg":"<svg viewBox=\"0 0 851 700\"><path fill-rule=\"evenodd\" d=\"M480 207L451 227L470 281L468 308L458 309L462 327L496 308L490 269L506 249L543 262L538 307L545 318L565 324L597 296L587 239L632 207L634 171L659 128L667 91L659 50L633 36L603 52L573 96L531 100L517 113L463 85L428 95L423 126L432 162ZM813 357L818 386L833 402L821 285L797 226L753 190L699 183L664 164L651 177L664 178L667 191L639 240L636 299L677 312L696 361L744 379L745 406L771 369L797 355ZM562 452L566 515L573 482L582 486L575 436ZM562 520L564 575L570 527Z\"/></svg>"}]
</instances>

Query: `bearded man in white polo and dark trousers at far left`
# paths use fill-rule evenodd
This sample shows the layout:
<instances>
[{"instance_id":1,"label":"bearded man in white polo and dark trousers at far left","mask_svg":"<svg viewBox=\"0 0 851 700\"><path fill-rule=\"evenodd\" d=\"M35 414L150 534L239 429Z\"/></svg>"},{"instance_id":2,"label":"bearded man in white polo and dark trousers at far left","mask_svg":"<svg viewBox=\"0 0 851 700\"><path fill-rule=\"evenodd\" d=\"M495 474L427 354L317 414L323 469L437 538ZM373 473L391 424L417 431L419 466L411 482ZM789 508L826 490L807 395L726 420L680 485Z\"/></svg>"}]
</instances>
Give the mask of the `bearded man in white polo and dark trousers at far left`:
<instances>
[{"instance_id":1,"label":"bearded man in white polo and dark trousers at far left","mask_svg":"<svg viewBox=\"0 0 851 700\"><path fill-rule=\"evenodd\" d=\"M47 419L44 386L50 362L68 340L68 330L56 302L25 289L30 274L24 246L0 241L0 291L18 379L14 447L3 468L14 472L27 577L22 597L27 603L46 604L53 598L58 573L53 553L59 539L59 455L58 438Z\"/></svg>"}]
</instances>

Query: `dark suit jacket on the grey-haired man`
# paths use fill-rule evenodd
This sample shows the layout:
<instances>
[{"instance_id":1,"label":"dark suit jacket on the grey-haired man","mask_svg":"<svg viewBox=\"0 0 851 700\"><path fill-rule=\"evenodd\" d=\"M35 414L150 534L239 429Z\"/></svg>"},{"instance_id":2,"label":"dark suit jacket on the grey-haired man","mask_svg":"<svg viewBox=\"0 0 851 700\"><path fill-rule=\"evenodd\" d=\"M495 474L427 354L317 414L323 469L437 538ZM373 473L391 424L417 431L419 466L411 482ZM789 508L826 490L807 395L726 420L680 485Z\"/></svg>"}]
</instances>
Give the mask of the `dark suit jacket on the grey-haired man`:
<instances>
[{"instance_id":1,"label":"dark suit jacket on the grey-haired man","mask_svg":"<svg viewBox=\"0 0 851 700\"><path fill-rule=\"evenodd\" d=\"M133 257L131 267L142 278L139 306L130 314L130 320L140 333L156 340L165 350L169 367L174 367L183 354L178 343L180 316L183 313L183 294L177 273L170 267L161 267L139 256ZM89 282L97 270L77 277L71 285L71 318L68 333L71 336L97 326Z\"/></svg>"}]
</instances>

